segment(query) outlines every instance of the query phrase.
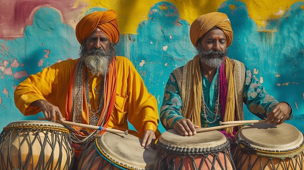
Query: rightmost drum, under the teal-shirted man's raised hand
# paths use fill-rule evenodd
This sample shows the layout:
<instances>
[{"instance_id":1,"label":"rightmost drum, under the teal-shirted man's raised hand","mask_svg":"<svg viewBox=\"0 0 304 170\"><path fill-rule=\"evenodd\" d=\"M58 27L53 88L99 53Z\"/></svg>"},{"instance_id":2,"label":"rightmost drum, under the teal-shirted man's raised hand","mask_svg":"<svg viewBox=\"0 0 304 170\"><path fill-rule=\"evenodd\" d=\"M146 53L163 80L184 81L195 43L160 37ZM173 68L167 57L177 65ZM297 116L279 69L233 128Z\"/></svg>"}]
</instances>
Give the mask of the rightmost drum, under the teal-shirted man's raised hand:
<instances>
[{"instance_id":1,"label":"rightmost drum, under the teal-shirted man's raised hand","mask_svg":"<svg viewBox=\"0 0 304 170\"><path fill-rule=\"evenodd\" d=\"M303 134L291 124L251 124L236 134L237 170L303 170Z\"/></svg>"}]
</instances>

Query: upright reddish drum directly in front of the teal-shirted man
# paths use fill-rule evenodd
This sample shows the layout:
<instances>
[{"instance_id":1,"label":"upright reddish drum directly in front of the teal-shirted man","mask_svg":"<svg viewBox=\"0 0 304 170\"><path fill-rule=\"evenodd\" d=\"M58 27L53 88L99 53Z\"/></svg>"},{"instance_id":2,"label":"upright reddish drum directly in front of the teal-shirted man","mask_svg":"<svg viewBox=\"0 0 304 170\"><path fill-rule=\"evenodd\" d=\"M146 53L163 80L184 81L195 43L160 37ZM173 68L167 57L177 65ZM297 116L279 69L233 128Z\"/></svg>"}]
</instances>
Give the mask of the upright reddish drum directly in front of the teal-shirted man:
<instances>
[{"instance_id":1,"label":"upright reddish drum directly in front of the teal-shirted man","mask_svg":"<svg viewBox=\"0 0 304 170\"><path fill-rule=\"evenodd\" d=\"M174 129L161 134L155 170L234 170L230 144L220 131L181 136Z\"/></svg>"}]
</instances>

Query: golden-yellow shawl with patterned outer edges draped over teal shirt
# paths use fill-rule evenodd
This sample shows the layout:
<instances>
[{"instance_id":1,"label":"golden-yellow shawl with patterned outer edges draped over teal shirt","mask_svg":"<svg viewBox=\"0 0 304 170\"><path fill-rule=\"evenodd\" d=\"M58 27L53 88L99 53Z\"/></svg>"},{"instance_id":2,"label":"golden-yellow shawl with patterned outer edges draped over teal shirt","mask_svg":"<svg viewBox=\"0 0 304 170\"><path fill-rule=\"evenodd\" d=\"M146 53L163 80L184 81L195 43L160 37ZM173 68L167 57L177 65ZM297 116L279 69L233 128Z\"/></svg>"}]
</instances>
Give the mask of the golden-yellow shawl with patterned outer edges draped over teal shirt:
<instances>
[{"instance_id":1,"label":"golden-yellow shawl with patterned outer edges draped over teal shirt","mask_svg":"<svg viewBox=\"0 0 304 170\"><path fill-rule=\"evenodd\" d=\"M225 57L225 75L227 81L225 114L222 121L243 120L243 89L245 82L244 64ZM202 74L200 69L200 58L195 56L193 60L186 63L183 70L173 71L180 89L183 102L182 115L190 119L193 124L201 126L202 106ZM225 128L232 134L233 127Z\"/></svg>"}]
</instances>

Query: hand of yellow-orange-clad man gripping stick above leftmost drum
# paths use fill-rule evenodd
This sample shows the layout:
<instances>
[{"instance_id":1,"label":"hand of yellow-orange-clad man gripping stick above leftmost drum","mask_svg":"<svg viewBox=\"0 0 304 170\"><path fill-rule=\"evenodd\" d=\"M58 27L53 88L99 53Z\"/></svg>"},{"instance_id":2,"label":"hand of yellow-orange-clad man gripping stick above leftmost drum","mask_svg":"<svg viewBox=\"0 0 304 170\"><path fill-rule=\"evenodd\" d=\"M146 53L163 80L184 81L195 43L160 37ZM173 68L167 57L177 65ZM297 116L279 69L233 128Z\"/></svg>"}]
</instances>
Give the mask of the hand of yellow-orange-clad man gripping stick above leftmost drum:
<instances>
[{"instance_id":1,"label":"hand of yellow-orange-clad man gripping stick above leftmost drum","mask_svg":"<svg viewBox=\"0 0 304 170\"><path fill-rule=\"evenodd\" d=\"M46 100L36 100L31 103L31 106L41 108L41 111L46 119L52 122L56 122L56 115L58 120L63 122L66 119L62 117L62 114L57 106L52 105Z\"/></svg>"}]
</instances>

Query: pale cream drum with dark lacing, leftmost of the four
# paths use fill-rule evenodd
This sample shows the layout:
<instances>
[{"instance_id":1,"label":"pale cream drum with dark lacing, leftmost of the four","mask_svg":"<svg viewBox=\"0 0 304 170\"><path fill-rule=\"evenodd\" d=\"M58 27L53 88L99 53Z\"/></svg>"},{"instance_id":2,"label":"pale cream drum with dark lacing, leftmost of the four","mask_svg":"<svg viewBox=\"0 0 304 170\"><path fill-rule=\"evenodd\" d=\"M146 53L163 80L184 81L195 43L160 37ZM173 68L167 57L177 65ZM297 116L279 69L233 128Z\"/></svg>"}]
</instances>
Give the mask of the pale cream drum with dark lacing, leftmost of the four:
<instances>
[{"instance_id":1,"label":"pale cream drum with dark lacing, leftmost of the four","mask_svg":"<svg viewBox=\"0 0 304 170\"><path fill-rule=\"evenodd\" d=\"M12 122L0 134L0 170L70 170L74 150L62 124Z\"/></svg>"}]
</instances>

